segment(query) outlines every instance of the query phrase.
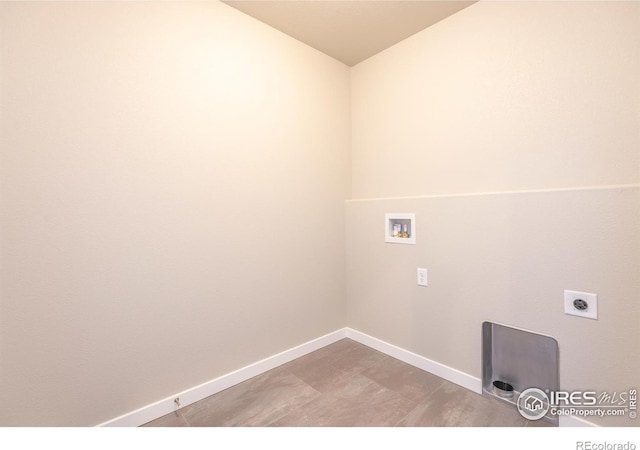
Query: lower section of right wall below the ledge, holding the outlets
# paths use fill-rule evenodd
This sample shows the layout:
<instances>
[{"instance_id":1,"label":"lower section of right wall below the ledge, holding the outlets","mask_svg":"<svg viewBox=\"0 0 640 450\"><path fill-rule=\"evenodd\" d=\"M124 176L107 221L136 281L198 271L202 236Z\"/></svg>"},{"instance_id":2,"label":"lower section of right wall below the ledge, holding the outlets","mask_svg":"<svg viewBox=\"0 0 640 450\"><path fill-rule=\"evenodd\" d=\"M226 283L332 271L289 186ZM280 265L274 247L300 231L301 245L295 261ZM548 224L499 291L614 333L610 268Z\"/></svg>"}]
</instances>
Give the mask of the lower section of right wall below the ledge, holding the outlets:
<instances>
[{"instance_id":1,"label":"lower section of right wall below the ledge, holding the outlets","mask_svg":"<svg viewBox=\"0 0 640 450\"><path fill-rule=\"evenodd\" d=\"M415 212L416 245L383 242L389 211ZM636 387L639 218L639 188L351 202L349 327L481 377L501 323L558 340L562 389ZM598 320L565 315L564 289L597 293Z\"/></svg>"}]
</instances>

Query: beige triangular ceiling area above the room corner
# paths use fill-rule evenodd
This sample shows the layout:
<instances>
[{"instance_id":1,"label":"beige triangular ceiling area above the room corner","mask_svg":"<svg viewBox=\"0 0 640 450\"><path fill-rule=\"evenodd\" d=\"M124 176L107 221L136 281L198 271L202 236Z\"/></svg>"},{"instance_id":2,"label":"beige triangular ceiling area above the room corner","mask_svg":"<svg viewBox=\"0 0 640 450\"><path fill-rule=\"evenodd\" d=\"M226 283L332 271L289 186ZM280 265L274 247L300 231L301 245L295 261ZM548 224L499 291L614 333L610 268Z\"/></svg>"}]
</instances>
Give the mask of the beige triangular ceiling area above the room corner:
<instances>
[{"instance_id":1,"label":"beige triangular ceiling area above the room corner","mask_svg":"<svg viewBox=\"0 0 640 450\"><path fill-rule=\"evenodd\" d=\"M475 2L227 0L224 3L353 66Z\"/></svg>"}]
</instances>

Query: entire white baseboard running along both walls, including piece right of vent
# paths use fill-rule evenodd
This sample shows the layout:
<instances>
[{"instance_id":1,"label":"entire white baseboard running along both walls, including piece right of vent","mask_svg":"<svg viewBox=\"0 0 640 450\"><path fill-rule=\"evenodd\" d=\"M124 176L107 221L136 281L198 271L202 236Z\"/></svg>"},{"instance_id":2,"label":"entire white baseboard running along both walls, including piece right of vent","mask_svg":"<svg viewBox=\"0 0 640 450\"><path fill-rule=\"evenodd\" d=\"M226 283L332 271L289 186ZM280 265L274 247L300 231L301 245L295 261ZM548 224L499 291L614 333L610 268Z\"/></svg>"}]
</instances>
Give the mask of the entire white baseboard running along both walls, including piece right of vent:
<instances>
[{"instance_id":1,"label":"entire white baseboard running along both walls, including piece right of vent","mask_svg":"<svg viewBox=\"0 0 640 450\"><path fill-rule=\"evenodd\" d=\"M340 339L349 338L359 342L374 350L378 350L393 358L399 359L418 369L432 373L440 378L462 386L477 394L482 394L482 380L471 376L465 372L446 366L439 362L412 353L403 348L397 347L388 342L361 333L351 328L336 330L327 335L313 339L297 347L290 348L276 355L265 358L256 363L250 364L241 369L235 370L226 375L222 375L211 381L207 381L199 386L192 387L182 392L178 392L163 400L157 401L140 409L124 414L115 419L101 423L99 427L137 427L162 417L177 409L174 400L180 398L181 407L195 403L210 395L223 391L231 386L242 383L250 378L260 375L268 370L274 369L282 364L288 363L296 358L311 353ZM597 425L578 417L560 417L561 427L595 427Z\"/></svg>"}]
</instances>

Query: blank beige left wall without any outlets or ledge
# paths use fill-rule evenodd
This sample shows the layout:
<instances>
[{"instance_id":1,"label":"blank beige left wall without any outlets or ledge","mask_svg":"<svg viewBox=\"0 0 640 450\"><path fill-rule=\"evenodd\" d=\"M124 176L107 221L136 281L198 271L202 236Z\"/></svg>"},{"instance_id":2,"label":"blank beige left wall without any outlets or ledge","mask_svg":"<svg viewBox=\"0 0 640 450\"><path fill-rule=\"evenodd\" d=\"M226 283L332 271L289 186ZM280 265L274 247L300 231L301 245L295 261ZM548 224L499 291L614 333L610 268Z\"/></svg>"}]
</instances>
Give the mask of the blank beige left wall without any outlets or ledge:
<instances>
[{"instance_id":1,"label":"blank beige left wall without any outlets or ledge","mask_svg":"<svg viewBox=\"0 0 640 450\"><path fill-rule=\"evenodd\" d=\"M0 33L1 425L345 325L345 65L217 2L4 2Z\"/></svg>"}]
</instances>

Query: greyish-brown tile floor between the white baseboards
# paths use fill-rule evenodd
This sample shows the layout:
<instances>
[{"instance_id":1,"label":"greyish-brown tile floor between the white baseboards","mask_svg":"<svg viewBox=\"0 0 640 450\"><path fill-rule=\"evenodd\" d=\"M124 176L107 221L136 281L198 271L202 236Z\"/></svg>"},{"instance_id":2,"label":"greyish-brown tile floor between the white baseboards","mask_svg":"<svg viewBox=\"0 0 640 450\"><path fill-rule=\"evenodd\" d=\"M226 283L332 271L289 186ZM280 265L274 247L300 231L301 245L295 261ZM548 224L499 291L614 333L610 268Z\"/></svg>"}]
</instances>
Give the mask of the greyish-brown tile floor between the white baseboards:
<instances>
[{"instance_id":1,"label":"greyish-brown tile floor between the white baseboards","mask_svg":"<svg viewBox=\"0 0 640 450\"><path fill-rule=\"evenodd\" d=\"M513 408L343 339L144 426L524 427Z\"/></svg>"}]
</instances>

